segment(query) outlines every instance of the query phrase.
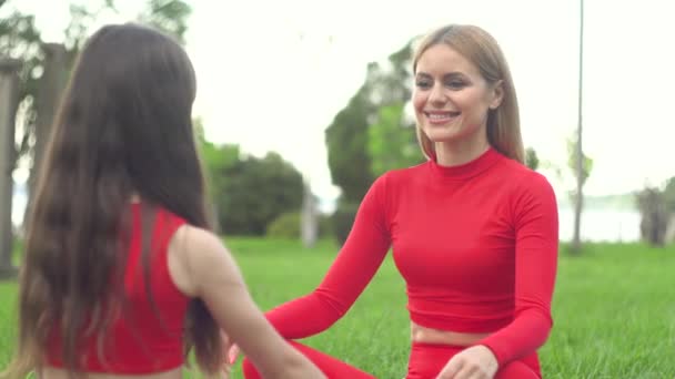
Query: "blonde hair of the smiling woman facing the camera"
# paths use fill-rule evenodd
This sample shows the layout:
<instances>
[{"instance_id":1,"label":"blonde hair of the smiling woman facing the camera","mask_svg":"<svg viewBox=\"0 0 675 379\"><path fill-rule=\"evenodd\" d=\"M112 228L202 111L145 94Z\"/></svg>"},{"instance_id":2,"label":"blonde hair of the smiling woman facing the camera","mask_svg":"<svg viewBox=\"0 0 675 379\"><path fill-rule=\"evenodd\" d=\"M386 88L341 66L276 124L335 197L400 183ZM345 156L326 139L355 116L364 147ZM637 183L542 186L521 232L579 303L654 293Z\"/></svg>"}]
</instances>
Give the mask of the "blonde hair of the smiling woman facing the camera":
<instances>
[{"instance_id":1,"label":"blonde hair of the smiling woman facing the camera","mask_svg":"<svg viewBox=\"0 0 675 379\"><path fill-rule=\"evenodd\" d=\"M474 25L451 24L429 33L420 42L413 58L413 73L416 73L420 57L431 47L444 43L475 64L488 84L502 81L504 96L500 106L487 115L487 141L500 153L523 163L525 150L521 136L518 102L511 71L502 49L486 31ZM416 126L417 141L422 153L435 158L434 143Z\"/></svg>"}]
</instances>

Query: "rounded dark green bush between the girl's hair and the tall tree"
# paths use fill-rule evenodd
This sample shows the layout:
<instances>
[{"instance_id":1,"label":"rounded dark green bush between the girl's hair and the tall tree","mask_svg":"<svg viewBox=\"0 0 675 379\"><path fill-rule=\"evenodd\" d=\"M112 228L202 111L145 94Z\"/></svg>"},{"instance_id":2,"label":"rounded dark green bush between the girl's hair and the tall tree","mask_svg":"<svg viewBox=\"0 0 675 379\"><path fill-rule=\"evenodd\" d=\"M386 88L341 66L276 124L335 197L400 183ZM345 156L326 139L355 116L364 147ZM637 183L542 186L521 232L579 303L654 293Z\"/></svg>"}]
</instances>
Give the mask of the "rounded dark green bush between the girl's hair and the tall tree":
<instances>
[{"instance_id":1,"label":"rounded dark green bush between the girl's hair and the tall tree","mask_svg":"<svg viewBox=\"0 0 675 379\"><path fill-rule=\"evenodd\" d=\"M302 175L276 153L228 163L211 177L219 224L225 234L264 235L274 218L302 204Z\"/></svg>"}]
</instances>

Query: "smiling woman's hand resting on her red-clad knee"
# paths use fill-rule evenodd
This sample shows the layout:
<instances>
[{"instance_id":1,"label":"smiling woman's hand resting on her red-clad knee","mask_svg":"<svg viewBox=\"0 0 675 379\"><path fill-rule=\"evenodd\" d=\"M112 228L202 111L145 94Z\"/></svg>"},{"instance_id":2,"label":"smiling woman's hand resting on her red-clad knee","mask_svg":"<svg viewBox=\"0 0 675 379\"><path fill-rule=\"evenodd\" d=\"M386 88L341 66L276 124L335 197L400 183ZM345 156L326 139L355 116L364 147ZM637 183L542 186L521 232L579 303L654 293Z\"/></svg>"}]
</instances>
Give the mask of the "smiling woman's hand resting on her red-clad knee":
<instances>
[{"instance_id":1,"label":"smiling woman's hand resting on her red-clad knee","mask_svg":"<svg viewBox=\"0 0 675 379\"><path fill-rule=\"evenodd\" d=\"M436 379L492 379L498 362L492 350L477 345L452 357Z\"/></svg>"}]
</instances>

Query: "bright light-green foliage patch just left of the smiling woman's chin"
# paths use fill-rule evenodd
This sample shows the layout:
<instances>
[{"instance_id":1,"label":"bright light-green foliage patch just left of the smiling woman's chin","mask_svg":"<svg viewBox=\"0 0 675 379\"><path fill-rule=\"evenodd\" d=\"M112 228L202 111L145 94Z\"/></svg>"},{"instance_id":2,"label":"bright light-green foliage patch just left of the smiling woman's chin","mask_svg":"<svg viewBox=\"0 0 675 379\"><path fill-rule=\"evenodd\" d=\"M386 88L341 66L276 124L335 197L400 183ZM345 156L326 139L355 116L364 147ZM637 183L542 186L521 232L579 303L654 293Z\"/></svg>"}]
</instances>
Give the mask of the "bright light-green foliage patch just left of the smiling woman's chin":
<instances>
[{"instance_id":1,"label":"bright light-green foliage patch just left of the smiling woman's chin","mask_svg":"<svg viewBox=\"0 0 675 379\"><path fill-rule=\"evenodd\" d=\"M403 105L397 103L380 107L377 121L367 129L367 152L375 177L390 170L424 162L415 137L415 126L405 121Z\"/></svg>"}]
</instances>

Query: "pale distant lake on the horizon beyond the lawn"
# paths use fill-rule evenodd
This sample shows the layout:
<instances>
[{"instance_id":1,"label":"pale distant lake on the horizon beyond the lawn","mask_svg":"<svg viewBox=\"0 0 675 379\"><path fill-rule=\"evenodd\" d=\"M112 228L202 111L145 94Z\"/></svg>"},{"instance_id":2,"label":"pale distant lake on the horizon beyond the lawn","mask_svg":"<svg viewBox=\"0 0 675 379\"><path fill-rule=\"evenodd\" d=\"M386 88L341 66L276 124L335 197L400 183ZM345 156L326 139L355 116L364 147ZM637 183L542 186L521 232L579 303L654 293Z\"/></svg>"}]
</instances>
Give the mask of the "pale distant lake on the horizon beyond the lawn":
<instances>
[{"instance_id":1,"label":"pale distant lake on the horizon beyond the lawn","mask_svg":"<svg viewBox=\"0 0 675 379\"><path fill-rule=\"evenodd\" d=\"M23 185L14 186L12 223L20 225L26 208ZM568 242L574 231L574 209L558 208L560 239ZM639 212L637 209L587 208L582 214L582 239L592 242L639 240Z\"/></svg>"}]
</instances>

